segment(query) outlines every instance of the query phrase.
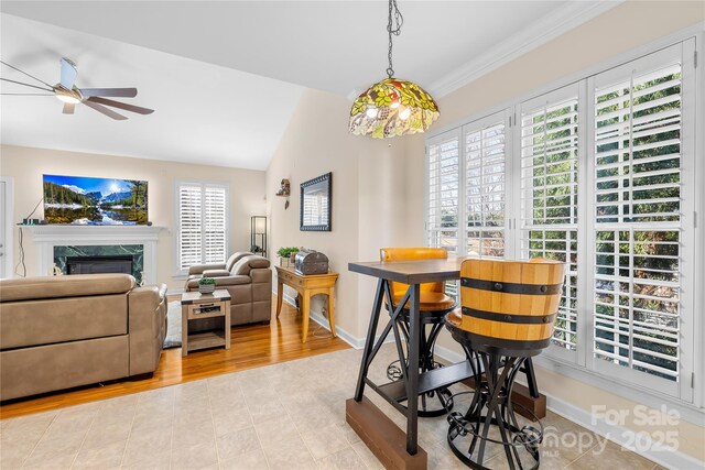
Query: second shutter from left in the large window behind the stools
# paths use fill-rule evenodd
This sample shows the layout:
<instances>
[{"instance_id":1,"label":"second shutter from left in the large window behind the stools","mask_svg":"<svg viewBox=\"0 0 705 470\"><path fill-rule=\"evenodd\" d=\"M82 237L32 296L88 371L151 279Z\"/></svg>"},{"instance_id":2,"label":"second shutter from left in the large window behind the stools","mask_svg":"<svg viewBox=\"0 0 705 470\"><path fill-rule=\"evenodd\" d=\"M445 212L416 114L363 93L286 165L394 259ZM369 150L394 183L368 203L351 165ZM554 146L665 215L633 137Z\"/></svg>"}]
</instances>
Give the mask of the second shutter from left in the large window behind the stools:
<instances>
[{"instance_id":1,"label":"second shutter from left in the large window behind the stools","mask_svg":"<svg viewBox=\"0 0 705 470\"><path fill-rule=\"evenodd\" d=\"M465 127L465 253L505 258L508 113Z\"/></svg>"}]
</instances>

